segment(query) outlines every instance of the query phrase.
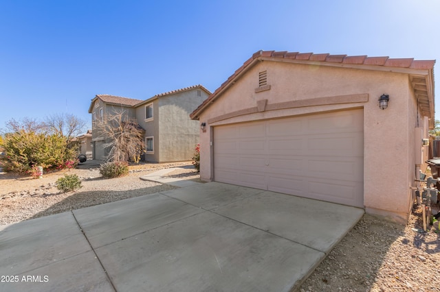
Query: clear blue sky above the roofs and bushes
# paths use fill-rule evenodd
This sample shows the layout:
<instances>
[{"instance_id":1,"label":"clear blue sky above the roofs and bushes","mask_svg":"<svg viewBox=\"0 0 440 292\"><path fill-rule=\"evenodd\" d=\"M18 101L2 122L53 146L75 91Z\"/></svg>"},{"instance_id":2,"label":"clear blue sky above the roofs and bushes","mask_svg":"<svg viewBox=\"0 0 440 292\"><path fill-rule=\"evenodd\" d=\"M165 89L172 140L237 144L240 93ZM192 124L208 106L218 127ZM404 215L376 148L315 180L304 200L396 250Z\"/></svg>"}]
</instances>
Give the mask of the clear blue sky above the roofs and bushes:
<instances>
[{"instance_id":1,"label":"clear blue sky above the roofs and bushes","mask_svg":"<svg viewBox=\"0 0 440 292\"><path fill-rule=\"evenodd\" d=\"M260 49L436 59L435 72L440 0L0 0L0 128L90 122L97 94L213 92Z\"/></svg>"}]
</instances>

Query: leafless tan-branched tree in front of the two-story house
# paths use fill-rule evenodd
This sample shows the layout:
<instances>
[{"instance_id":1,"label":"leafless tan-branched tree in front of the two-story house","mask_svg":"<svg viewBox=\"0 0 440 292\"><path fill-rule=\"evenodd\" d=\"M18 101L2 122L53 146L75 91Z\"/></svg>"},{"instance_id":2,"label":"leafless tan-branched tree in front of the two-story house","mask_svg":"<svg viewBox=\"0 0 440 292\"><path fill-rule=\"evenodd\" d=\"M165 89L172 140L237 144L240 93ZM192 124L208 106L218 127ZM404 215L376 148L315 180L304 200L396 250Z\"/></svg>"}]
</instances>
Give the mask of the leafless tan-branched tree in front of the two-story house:
<instances>
[{"instance_id":1,"label":"leafless tan-branched tree in front of the two-story house","mask_svg":"<svg viewBox=\"0 0 440 292\"><path fill-rule=\"evenodd\" d=\"M96 121L94 131L107 140L110 148L107 161L134 161L139 162L144 151L144 129L135 119L130 119L121 110L108 114L107 119Z\"/></svg>"}]
</instances>

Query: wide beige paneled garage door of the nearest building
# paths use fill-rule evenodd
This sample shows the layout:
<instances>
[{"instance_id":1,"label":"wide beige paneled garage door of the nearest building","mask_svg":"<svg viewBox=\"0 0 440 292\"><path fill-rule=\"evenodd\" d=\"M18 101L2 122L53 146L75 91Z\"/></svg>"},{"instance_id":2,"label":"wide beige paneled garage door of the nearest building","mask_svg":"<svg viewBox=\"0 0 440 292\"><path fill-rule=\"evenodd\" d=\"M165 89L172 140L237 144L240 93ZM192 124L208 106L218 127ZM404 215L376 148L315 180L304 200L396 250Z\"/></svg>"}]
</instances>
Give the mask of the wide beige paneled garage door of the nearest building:
<instances>
[{"instance_id":1,"label":"wide beige paneled garage door of the nearest building","mask_svg":"<svg viewBox=\"0 0 440 292\"><path fill-rule=\"evenodd\" d=\"M363 110L214 127L214 180L364 206Z\"/></svg>"}]
</instances>

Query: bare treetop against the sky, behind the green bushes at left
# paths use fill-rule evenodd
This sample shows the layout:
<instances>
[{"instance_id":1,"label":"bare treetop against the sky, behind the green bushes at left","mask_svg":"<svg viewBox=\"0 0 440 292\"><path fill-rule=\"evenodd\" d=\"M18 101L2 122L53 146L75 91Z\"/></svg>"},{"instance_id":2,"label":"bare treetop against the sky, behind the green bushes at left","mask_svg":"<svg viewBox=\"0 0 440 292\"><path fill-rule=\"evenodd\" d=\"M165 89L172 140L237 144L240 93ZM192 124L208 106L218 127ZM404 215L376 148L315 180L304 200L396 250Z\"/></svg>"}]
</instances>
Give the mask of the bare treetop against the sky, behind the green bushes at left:
<instances>
[{"instance_id":1,"label":"bare treetop against the sky, behind the green bushes at left","mask_svg":"<svg viewBox=\"0 0 440 292\"><path fill-rule=\"evenodd\" d=\"M46 117L43 124L50 134L58 134L66 137L67 141L71 141L72 138L84 132L86 122L74 114L52 114Z\"/></svg>"}]
</instances>

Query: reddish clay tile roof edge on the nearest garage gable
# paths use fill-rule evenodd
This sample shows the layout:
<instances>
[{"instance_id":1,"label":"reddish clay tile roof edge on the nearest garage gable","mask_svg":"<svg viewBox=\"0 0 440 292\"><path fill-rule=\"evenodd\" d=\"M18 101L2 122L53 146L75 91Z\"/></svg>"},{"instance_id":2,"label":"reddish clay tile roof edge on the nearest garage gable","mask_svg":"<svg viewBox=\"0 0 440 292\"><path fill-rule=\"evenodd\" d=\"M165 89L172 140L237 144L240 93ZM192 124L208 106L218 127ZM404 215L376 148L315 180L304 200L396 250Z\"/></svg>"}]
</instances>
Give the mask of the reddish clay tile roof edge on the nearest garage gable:
<instances>
[{"instance_id":1,"label":"reddish clay tile roof edge on the nearest garage gable","mask_svg":"<svg viewBox=\"0 0 440 292\"><path fill-rule=\"evenodd\" d=\"M213 99L217 97L219 93L225 88L237 80L247 69L254 66L257 60L271 58L271 59L285 59L285 60L298 60L300 62L307 61L310 62L326 62L331 65L331 63L342 63L342 64L353 64L364 66L368 65L369 69L373 69L372 66L377 66L377 69L382 67L394 67L394 68L408 68L408 69L423 69L432 70L433 75L435 60L414 60L413 58L397 58L392 59L387 56L382 57L368 57L368 56L347 56L347 55L330 55L329 53L298 53L298 52L288 52L288 51L256 51L252 54L252 57L246 60L243 65L236 69L234 74L228 77L228 80L223 82L219 88L217 88L214 93L208 97L203 103L190 114L192 119L198 119L199 114L203 111L208 104L212 103ZM334 64L333 66L338 66ZM362 67L360 67L362 68Z\"/></svg>"}]
</instances>

